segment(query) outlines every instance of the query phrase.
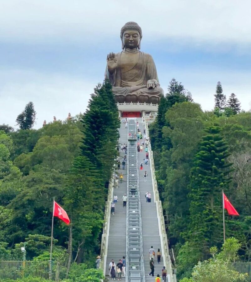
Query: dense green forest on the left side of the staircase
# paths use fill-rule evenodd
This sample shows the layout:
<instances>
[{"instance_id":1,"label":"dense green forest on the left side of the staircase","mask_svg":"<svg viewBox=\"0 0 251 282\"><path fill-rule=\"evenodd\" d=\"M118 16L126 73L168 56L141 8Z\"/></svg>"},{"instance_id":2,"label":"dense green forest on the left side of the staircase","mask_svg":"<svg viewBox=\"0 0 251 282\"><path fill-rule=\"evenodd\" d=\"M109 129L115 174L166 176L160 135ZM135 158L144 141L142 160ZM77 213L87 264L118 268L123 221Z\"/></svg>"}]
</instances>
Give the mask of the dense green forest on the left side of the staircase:
<instances>
[{"instance_id":1,"label":"dense green forest on the left side of the staircase","mask_svg":"<svg viewBox=\"0 0 251 282\"><path fill-rule=\"evenodd\" d=\"M53 260L61 263L61 278L74 272L72 262L84 263L83 274L100 252L117 156L120 122L111 84L98 84L83 115L35 130L30 102L17 122L19 130L2 125L0 131L0 260L22 260L24 242L27 260L49 260L55 198L71 223L54 219Z\"/></svg>"}]
</instances>

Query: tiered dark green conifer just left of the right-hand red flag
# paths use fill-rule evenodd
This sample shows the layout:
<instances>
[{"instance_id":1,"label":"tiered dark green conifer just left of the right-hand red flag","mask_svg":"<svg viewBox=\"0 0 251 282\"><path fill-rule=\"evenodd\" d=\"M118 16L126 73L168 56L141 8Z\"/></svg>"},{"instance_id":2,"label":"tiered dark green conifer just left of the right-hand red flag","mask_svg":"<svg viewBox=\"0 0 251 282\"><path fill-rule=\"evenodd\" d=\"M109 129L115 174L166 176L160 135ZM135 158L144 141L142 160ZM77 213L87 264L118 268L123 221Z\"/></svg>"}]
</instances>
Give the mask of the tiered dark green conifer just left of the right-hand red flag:
<instances>
[{"instance_id":1,"label":"tiered dark green conifer just left of the right-hand red flag","mask_svg":"<svg viewBox=\"0 0 251 282\"><path fill-rule=\"evenodd\" d=\"M190 175L190 223L188 238L195 242L202 254L222 239L222 189L231 182L230 155L221 135L221 128L205 129L200 151L195 157Z\"/></svg>"}]
</instances>

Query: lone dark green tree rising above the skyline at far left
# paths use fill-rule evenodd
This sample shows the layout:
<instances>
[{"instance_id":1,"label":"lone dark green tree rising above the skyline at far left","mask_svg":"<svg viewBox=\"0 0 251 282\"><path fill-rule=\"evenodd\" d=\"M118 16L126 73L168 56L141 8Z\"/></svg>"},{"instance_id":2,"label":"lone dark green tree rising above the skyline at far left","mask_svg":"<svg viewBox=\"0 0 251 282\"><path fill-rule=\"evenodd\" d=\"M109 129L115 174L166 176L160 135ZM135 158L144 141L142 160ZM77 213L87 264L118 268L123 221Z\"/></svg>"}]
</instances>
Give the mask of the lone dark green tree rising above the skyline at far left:
<instances>
[{"instance_id":1,"label":"lone dark green tree rising above the skyline at far left","mask_svg":"<svg viewBox=\"0 0 251 282\"><path fill-rule=\"evenodd\" d=\"M24 111L18 115L16 122L19 125L20 129L31 129L34 126L36 119L36 111L34 109L33 102L29 102Z\"/></svg>"}]
</instances>

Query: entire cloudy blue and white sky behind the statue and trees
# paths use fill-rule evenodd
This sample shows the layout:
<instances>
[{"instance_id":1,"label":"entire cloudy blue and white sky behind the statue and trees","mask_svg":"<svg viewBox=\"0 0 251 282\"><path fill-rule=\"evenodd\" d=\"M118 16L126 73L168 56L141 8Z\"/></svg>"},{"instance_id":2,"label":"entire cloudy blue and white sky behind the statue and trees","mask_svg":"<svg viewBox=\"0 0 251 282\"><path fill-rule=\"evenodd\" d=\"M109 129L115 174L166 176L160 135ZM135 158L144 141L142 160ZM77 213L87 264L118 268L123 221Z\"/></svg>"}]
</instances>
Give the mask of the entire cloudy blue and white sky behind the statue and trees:
<instances>
[{"instance_id":1,"label":"entire cloudy blue and white sky behind the statue and trees","mask_svg":"<svg viewBox=\"0 0 251 282\"><path fill-rule=\"evenodd\" d=\"M0 1L0 124L15 126L29 101L36 128L84 112L127 21L141 26L141 50L155 60L165 93L174 77L211 110L221 81L227 97L250 109L248 0Z\"/></svg>"}]
</instances>

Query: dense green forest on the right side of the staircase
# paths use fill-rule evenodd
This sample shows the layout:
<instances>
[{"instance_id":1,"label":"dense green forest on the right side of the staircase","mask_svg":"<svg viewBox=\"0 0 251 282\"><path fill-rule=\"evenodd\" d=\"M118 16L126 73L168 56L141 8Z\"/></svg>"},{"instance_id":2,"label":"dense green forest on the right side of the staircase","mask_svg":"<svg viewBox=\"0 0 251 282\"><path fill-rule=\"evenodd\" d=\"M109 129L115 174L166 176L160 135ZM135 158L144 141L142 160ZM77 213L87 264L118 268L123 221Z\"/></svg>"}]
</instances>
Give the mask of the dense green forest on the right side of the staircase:
<instances>
[{"instance_id":1,"label":"dense green forest on the right side of the staircase","mask_svg":"<svg viewBox=\"0 0 251 282\"><path fill-rule=\"evenodd\" d=\"M220 82L215 109L205 112L177 86L161 99L150 135L178 277L189 278L210 247L222 247L222 190L240 214L226 214L226 237L251 260L251 113L233 93L226 101Z\"/></svg>"}]
</instances>

